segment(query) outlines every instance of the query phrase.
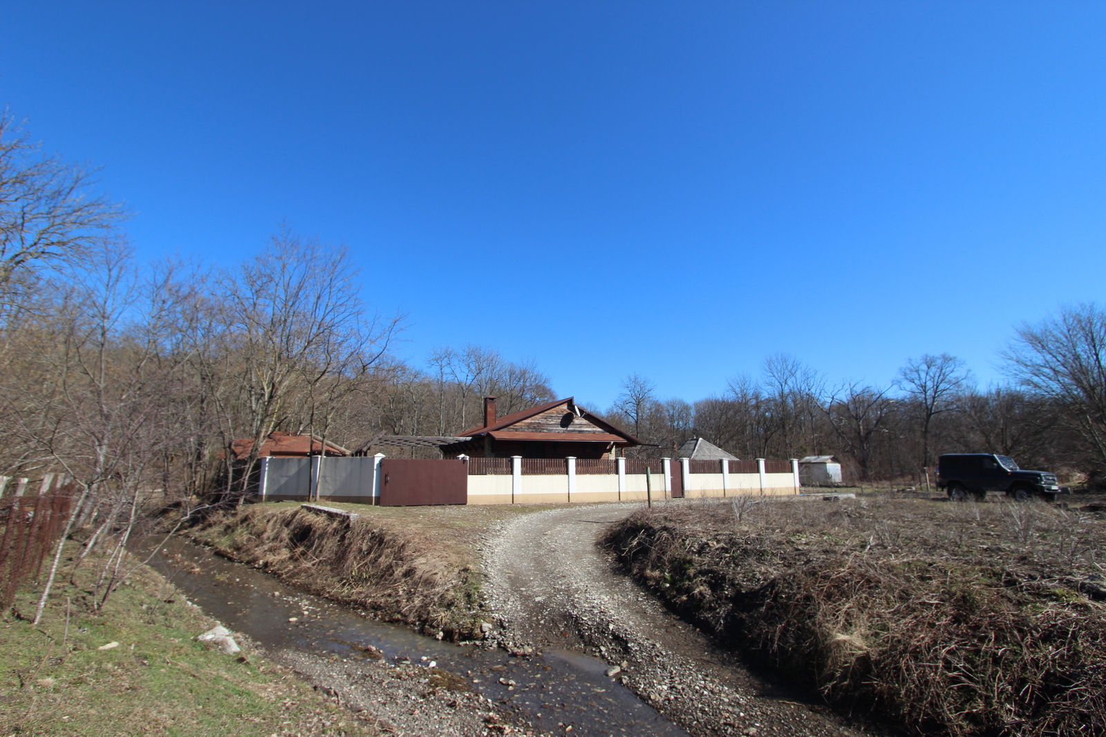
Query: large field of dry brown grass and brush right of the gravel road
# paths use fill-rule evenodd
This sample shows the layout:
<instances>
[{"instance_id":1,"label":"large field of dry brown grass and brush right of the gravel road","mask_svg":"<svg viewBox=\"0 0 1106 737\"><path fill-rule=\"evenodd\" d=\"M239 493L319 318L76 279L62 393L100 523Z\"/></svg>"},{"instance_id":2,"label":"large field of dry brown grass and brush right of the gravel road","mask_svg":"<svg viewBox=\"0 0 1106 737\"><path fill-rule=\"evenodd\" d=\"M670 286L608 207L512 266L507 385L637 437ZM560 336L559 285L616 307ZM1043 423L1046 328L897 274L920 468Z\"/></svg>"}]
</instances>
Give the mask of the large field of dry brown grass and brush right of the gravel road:
<instances>
[{"instance_id":1,"label":"large field of dry brown grass and brush right of the gravel road","mask_svg":"<svg viewBox=\"0 0 1106 737\"><path fill-rule=\"evenodd\" d=\"M720 641L918 733L1106 733L1106 531L1043 504L668 506L613 526L632 573Z\"/></svg>"}]
</instances>

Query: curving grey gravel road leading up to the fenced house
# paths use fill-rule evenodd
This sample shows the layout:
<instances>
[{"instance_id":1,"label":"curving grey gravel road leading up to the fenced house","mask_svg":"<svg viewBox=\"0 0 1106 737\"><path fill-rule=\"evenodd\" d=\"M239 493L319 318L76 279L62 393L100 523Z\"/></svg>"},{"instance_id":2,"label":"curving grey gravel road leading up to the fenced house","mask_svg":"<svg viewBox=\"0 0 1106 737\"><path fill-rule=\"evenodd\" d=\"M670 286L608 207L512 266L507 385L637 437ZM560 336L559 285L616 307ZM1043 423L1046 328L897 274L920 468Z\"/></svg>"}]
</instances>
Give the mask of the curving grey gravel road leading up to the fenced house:
<instances>
[{"instance_id":1,"label":"curving grey gravel road leading up to the fenced house","mask_svg":"<svg viewBox=\"0 0 1106 737\"><path fill-rule=\"evenodd\" d=\"M682 504L682 502L677 502ZM802 695L781 693L669 614L596 547L640 505L551 509L504 521L483 546L491 636L508 648L575 650L695 737L865 733Z\"/></svg>"}]
</instances>

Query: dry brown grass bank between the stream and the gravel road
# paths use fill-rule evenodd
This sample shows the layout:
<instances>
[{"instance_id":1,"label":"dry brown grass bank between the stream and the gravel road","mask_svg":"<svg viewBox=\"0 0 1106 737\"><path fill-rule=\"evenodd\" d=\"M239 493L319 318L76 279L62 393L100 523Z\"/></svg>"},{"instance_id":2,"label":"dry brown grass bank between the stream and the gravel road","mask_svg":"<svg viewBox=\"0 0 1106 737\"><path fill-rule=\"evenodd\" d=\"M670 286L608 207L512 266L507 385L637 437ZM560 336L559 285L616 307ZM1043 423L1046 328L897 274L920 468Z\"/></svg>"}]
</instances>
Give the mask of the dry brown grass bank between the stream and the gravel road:
<instances>
[{"instance_id":1,"label":"dry brown grass bank between the stream and the gravel road","mask_svg":"<svg viewBox=\"0 0 1106 737\"><path fill-rule=\"evenodd\" d=\"M254 505L208 520L197 540L290 584L452 640L479 636L480 579L465 551L425 528L352 523L296 506Z\"/></svg>"}]
</instances>

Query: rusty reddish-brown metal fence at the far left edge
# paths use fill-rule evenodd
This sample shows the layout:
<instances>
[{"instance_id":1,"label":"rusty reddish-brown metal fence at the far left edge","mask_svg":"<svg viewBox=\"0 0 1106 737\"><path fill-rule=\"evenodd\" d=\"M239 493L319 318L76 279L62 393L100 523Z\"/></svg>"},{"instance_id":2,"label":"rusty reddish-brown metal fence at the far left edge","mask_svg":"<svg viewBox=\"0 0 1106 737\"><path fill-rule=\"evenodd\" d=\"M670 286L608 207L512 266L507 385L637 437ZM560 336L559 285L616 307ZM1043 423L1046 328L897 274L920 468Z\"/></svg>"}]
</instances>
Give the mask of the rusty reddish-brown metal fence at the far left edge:
<instances>
[{"instance_id":1,"label":"rusty reddish-brown metal fence at the far left edge","mask_svg":"<svg viewBox=\"0 0 1106 737\"><path fill-rule=\"evenodd\" d=\"M38 578L42 562L65 529L74 487L55 494L0 499L0 611L15 603L23 579Z\"/></svg>"}]
</instances>

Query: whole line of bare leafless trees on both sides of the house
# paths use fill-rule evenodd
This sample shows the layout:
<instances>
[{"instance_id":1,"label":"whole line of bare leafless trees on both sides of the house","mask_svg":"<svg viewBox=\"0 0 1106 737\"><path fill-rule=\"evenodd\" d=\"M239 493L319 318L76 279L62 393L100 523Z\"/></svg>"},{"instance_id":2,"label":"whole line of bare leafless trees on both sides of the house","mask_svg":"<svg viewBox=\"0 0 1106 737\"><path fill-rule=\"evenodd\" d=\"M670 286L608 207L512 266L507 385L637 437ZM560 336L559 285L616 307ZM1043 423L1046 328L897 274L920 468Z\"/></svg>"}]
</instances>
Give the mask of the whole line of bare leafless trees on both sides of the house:
<instances>
[{"instance_id":1,"label":"whole line of bare leafless trees on both sides of the house","mask_svg":"<svg viewBox=\"0 0 1106 737\"><path fill-rule=\"evenodd\" d=\"M0 118L0 473L72 476L82 522L112 528L144 495L240 498L273 430L346 447L448 436L482 424L484 396L500 414L555 398L533 362L486 346L399 360L404 315L369 308L345 249L288 228L229 268L139 264L125 210L92 174ZM1104 346L1106 314L1083 304L1019 328L998 386L946 354L884 385L832 385L773 355L696 402L630 375L605 414L647 456L701 436L741 458L837 455L858 479L910 477L958 450L1092 474L1106 468ZM238 438L253 439L242 464L227 453Z\"/></svg>"}]
</instances>

